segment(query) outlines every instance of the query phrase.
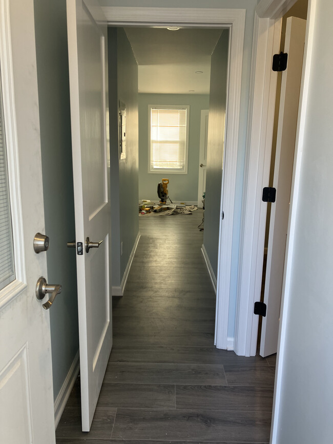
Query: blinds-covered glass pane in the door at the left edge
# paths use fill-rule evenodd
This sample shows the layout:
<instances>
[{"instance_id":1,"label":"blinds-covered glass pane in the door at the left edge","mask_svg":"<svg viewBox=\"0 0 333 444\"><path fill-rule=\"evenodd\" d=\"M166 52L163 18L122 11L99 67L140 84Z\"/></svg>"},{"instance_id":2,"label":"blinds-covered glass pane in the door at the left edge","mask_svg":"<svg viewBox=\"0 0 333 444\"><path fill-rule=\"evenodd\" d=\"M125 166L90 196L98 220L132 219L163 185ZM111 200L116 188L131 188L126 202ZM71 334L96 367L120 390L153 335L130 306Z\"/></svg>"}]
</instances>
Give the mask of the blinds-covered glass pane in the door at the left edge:
<instances>
[{"instance_id":1,"label":"blinds-covered glass pane in the door at the left edge","mask_svg":"<svg viewBox=\"0 0 333 444\"><path fill-rule=\"evenodd\" d=\"M15 280L13 232L0 78L0 290Z\"/></svg>"}]
</instances>

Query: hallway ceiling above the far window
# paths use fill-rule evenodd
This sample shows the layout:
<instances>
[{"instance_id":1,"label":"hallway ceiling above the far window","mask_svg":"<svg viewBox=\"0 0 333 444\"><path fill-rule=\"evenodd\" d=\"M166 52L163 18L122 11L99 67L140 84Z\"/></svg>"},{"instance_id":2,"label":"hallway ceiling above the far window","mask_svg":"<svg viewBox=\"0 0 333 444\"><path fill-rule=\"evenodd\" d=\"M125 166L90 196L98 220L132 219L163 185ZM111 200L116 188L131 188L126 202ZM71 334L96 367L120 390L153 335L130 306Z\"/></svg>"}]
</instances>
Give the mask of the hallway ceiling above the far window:
<instances>
[{"instance_id":1,"label":"hallway ceiling above the far window","mask_svg":"<svg viewBox=\"0 0 333 444\"><path fill-rule=\"evenodd\" d=\"M125 28L125 31L139 67L140 93L209 94L211 54L221 29Z\"/></svg>"}]
</instances>

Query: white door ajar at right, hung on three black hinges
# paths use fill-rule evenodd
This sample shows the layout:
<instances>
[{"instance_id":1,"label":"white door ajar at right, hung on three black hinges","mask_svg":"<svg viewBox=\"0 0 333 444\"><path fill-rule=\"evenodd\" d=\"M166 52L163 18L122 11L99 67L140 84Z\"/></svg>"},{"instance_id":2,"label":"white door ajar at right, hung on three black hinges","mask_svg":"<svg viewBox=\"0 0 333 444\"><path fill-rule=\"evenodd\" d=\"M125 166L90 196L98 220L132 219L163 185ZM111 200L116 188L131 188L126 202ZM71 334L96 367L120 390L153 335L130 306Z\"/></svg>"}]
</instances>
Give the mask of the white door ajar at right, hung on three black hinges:
<instances>
[{"instance_id":1,"label":"white door ajar at right, hung on three black hinges","mask_svg":"<svg viewBox=\"0 0 333 444\"><path fill-rule=\"evenodd\" d=\"M294 152L301 86L306 20L287 18L284 52L287 69L282 72L281 98L275 156L274 183L276 201L272 203L269 221L267 268L262 318L260 355L277 352L285 244L289 217Z\"/></svg>"}]
</instances>

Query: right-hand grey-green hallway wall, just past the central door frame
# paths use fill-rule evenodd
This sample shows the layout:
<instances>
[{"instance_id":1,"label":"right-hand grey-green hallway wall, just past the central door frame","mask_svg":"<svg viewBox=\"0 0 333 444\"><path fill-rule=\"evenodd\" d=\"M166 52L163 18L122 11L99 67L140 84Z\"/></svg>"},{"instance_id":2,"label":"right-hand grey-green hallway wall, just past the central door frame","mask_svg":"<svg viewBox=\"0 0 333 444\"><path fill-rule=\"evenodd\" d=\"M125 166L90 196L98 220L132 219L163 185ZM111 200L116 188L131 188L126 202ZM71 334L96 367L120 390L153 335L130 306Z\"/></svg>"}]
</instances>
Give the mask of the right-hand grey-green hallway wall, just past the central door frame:
<instances>
[{"instance_id":1,"label":"right-hand grey-green hallway wall, just past the central door frame","mask_svg":"<svg viewBox=\"0 0 333 444\"><path fill-rule=\"evenodd\" d=\"M228 32L224 30L212 54L207 140L206 195L203 245L217 278L218 239L226 105Z\"/></svg>"}]
</instances>

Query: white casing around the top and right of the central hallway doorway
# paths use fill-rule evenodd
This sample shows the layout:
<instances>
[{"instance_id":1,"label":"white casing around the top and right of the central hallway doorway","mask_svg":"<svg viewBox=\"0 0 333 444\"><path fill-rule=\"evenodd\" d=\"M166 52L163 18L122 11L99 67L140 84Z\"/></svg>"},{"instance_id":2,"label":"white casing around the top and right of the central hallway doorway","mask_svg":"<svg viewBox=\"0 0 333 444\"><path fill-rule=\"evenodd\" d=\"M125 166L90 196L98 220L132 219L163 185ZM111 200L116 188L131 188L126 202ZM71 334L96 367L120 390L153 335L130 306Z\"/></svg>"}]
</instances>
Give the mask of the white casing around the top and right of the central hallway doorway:
<instances>
[{"instance_id":1,"label":"white casing around the top and right of the central hallway doorway","mask_svg":"<svg viewBox=\"0 0 333 444\"><path fill-rule=\"evenodd\" d=\"M245 9L103 7L112 26L170 26L227 28L230 32L225 156L222 183L223 230L220 223L217 276L216 335L217 348L227 348L227 328L231 282L232 239L236 167L238 153L241 75L245 30Z\"/></svg>"}]
</instances>

